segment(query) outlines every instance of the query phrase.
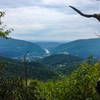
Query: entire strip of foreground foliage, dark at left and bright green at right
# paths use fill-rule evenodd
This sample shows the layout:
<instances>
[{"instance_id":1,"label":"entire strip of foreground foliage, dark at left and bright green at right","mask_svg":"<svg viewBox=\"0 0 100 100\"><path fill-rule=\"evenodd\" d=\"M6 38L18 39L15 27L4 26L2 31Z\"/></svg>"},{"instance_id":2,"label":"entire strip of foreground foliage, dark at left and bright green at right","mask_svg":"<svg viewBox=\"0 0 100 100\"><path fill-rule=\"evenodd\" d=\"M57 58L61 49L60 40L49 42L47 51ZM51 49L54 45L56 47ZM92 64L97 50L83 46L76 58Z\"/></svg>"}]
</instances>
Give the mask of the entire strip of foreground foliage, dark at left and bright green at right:
<instances>
[{"instance_id":1,"label":"entire strip of foreground foliage, dark at left and bright green at right","mask_svg":"<svg viewBox=\"0 0 100 100\"><path fill-rule=\"evenodd\" d=\"M0 100L100 100L96 83L100 64L82 63L69 77L56 81L3 80L0 78Z\"/></svg>"}]
</instances>

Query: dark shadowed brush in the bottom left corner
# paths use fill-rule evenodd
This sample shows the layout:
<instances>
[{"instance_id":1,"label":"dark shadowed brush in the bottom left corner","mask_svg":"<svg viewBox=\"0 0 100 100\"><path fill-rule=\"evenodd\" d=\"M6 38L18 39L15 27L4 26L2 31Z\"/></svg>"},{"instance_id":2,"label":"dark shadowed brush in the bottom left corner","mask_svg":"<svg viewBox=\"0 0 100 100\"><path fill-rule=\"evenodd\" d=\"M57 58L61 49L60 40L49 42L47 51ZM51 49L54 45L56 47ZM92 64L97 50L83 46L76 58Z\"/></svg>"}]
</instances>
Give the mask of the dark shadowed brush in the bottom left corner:
<instances>
[{"instance_id":1,"label":"dark shadowed brush in the bottom left corner","mask_svg":"<svg viewBox=\"0 0 100 100\"><path fill-rule=\"evenodd\" d=\"M34 84L35 83L35 84ZM37 100L36 85L25 86L22 79L16 80L0 80L0 100Z\"/></svg>"}]
</instances>

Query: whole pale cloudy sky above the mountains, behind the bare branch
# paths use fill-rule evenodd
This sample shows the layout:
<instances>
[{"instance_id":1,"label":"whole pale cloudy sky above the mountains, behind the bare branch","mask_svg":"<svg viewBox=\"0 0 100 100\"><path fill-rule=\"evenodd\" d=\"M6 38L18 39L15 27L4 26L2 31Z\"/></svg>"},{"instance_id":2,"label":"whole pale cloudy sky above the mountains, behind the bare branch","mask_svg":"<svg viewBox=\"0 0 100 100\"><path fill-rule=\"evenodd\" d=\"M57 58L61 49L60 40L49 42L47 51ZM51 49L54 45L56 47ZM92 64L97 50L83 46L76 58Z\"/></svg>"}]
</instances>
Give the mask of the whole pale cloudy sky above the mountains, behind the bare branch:
<instances>
[{"instance_id":1,"label":"whole pale cloudy sky above the mountains, behind the bare branch","mask_svg":"<svg viewBox=\"0 0 100 100\"><path fill-rule=\"evenodd\" d=\"M68 41L96 38L100 22L84 18L69 8L84 13L100 13L96 0L0 0L2 19L14 31L10 37L36 41Z\"/></svg>"}]
</instances>

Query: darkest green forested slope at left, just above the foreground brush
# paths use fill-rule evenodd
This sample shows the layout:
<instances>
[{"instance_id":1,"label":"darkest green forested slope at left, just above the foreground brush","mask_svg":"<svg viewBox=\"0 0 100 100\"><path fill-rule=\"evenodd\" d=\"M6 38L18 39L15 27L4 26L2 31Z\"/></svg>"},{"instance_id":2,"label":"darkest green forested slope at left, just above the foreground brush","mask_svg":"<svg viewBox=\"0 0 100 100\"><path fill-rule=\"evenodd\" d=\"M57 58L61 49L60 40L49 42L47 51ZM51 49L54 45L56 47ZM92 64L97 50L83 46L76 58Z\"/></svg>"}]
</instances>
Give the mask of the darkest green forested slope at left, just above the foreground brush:
<instances>
[{"instance_id":1,"label":"darkest green forested slope at left, just above the foreground brush","mask_svg":"<svg viewBox=\"0 0 100 100\"><path fill-rule=\"evenodd\" d=\"M57 74L49 69L42 63L38 62L28 62L24 63L12 60L10 58L0 57L0 67L3 68L3 71L0 73L2 77L8 78L25 78L25 67L27 67L27 78L29 79L39 79L39 80L48 80L57 77Z\"/></svg>"}]
</instances>

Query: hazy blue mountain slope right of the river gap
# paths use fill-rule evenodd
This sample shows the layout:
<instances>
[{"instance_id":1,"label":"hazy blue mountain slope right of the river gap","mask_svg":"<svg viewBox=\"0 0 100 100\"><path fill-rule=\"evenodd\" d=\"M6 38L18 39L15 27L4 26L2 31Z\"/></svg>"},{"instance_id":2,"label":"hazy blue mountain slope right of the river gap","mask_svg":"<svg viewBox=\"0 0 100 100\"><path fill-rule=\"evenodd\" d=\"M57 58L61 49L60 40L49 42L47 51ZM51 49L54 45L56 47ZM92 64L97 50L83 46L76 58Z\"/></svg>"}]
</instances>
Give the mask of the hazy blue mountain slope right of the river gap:
<instances>
[{"instance_id":1,"label":"hazy blue mountain slope right of the river gap","mask_svg":"<svg viewBox=\"0 0 100 100\"><path fill-rule=\"evenodd\" d=\"M54 48L52 54L60 54L63 52L68 52L72 55L87 58L91 54L95 57L100 57L100 39L82 39L76 40L69 43L61 44Z\"/></svg>"}]
</instances>

